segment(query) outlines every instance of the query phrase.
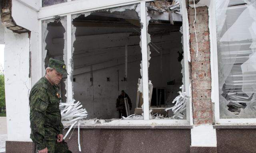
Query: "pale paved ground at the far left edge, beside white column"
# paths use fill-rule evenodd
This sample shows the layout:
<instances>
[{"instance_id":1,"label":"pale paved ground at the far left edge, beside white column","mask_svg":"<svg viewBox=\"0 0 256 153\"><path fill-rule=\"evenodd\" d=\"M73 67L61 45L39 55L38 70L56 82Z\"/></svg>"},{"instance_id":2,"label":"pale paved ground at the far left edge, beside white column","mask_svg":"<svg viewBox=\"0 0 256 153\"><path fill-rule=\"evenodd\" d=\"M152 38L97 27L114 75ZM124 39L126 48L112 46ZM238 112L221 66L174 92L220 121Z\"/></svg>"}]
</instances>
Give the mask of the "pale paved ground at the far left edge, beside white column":
<instances>
[{"instance_id":1,"label":"pale paved ground at the far left edge, beside white column","mask_svg":"<svg viewBox=\"0 0 256 153\"><path fill-rule=\"evenodd\" d=\"M6 140L7 140L6 117L0 117L0 153L5 153Z\"/></svg>"}]
</instances>

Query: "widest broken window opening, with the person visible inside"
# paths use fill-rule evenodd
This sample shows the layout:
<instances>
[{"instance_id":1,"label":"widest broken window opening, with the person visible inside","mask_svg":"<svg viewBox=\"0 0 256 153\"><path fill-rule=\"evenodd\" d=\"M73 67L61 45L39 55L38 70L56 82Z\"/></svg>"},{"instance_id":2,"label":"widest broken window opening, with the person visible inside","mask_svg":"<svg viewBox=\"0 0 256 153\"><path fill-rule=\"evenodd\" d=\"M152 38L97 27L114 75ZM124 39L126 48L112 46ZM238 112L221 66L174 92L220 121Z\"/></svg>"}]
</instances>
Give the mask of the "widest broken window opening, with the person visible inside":
<instances>
[{"instance_id":1,"label":"widest broken window opening, with the person visible inside","mask_svg":"<svg viewBox=\"0 0 256 153\"><path fill-rule=\"evenodd\" d=\"M138 9L132 5L72 16L74 99L90 119L126 116L127 102L134 113L142 60Z\"/></svg>"}]
</instances>

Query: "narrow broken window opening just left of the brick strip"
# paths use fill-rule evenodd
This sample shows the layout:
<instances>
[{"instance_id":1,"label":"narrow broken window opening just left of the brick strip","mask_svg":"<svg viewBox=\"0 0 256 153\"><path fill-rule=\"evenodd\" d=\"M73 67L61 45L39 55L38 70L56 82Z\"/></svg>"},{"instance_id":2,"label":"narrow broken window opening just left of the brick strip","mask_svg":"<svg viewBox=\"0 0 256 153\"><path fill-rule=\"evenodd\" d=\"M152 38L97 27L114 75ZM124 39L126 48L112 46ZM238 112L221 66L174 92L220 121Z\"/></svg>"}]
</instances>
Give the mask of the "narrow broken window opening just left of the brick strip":
<instances>
[{"instance_id":1,"label":"narrow broken window opening just left of the brick strip","mask_svg":"<svg viewBox=\"0 0 256 153\"><path fill-rule=\"evenodd\" d=\"M179 0L147 3L151 119L186 119L181 10Z\"/></svg>"}]
</instances>

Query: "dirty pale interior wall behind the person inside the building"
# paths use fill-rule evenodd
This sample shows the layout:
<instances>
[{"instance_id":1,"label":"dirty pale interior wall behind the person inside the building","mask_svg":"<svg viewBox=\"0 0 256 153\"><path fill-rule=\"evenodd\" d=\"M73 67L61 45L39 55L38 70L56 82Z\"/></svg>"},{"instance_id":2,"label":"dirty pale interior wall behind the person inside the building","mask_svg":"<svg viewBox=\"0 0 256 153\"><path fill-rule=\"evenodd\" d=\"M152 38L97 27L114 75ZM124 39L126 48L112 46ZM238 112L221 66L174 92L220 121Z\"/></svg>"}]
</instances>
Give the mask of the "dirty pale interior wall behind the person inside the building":
<instances>
[{"instance_id":1,"label":"dirty pale interior wall behind the person inside the building","mask_svg":"<svg viewBox=\"0 0 256 153\"><path fill-rule=\"evenodd\" d=\"M77 75L74 82L74 99L80 100L86 108L89 118L118 118L116 111L116 98L120 95L121 90L126 93L132 100L132 106L136 104L137 83L140 78L140 62L128 64L128 81L124 80L124 64L107 69L93 72L93 86L90 82L91 74L85 73ZM119 71L119 73L117 72ZM119 74L119 90L118 90ZM107 77L110 81L107 82Z\"/></svg>"}]
</instances>

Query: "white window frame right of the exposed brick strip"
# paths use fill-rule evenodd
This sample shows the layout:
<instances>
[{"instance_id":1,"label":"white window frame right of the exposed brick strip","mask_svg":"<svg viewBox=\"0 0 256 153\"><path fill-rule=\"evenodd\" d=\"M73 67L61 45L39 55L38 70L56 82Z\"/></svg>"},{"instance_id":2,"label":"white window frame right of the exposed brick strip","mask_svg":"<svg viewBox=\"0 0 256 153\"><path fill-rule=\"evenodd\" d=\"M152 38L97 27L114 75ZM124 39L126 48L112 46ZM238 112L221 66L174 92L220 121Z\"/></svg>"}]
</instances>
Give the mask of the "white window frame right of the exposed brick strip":
<instances>
[{"instance_id":1,"label":"white window frame right of the exposed brick strip","mask_svg":"<svg viewBox=\"0 0 256 153\"><path fill-rule=\"evenodd\" d=\"M256 118L220 118L219 78L218 78L218 53L216 32L215 2L211 0L209 7L209 31L210 31L210 64L212 74L212 94L216 124L251 124L256 123Z\"/></svg>"}]
</instances>

